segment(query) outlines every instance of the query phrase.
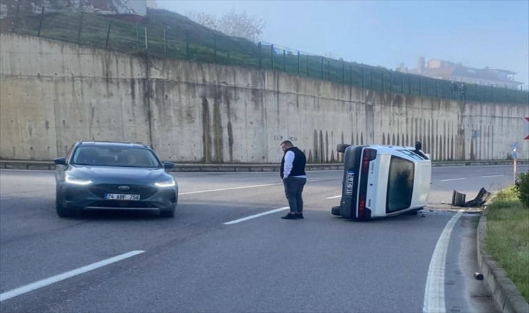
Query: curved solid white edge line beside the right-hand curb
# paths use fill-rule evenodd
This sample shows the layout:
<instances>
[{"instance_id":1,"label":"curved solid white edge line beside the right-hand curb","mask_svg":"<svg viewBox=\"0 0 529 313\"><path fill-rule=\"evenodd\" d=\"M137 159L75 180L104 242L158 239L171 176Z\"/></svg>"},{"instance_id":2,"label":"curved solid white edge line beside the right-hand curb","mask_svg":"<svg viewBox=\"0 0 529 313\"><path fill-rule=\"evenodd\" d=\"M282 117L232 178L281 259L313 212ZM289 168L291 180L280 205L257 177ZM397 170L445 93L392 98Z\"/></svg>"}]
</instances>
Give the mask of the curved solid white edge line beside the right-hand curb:
<instances>
[{"instance_id":1,"label":"curved solid white edge line beside the right-hand curb","mask_svg":"<svg viewBox=\"0 0 529 313\"><path fill-rule=\"evenodd\" d=\"M445 305L445 262L448 243L450 243L450 234L454 228L462 211L457 212L445 226L445 229L439 236L437 244L432 254L428 268L425 287L425 302L423 313L446 312Z\"/></svg>"}]
</instances>

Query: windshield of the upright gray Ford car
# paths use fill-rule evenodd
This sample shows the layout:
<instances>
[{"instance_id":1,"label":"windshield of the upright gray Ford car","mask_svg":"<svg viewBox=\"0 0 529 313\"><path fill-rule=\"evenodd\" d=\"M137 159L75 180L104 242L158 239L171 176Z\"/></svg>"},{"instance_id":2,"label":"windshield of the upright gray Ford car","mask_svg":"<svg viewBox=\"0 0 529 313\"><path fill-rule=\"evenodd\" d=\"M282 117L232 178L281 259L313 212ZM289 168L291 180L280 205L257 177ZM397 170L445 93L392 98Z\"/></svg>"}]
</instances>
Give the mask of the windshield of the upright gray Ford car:
<instances>
[{"instance_id":1,"label":"windshield of the upright gray Ford car","mask_svg":"<svg viewBox=\"0 0 529 313\"><path fill-rule=\"evenodd\" d=\"M89 166L160 167L159 161L150 150L132 147L78 147L71 163Z\"/></svg>"}]
</instances>

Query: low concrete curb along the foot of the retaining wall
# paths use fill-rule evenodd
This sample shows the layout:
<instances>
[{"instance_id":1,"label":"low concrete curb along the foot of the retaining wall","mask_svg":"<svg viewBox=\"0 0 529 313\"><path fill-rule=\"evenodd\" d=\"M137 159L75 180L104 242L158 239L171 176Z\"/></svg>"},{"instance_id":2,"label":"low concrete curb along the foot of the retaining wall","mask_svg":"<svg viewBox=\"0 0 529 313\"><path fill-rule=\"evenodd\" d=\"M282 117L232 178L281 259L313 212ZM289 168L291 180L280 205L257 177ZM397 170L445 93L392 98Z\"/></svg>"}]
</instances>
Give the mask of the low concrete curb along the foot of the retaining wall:
<instances>
[{"instance_id":1,"label":"low concrete curb along the foot of the retaining wall","mask_svg":"<svg viewBox=\"0 0 529 313\"><path fill-rule=\"evenodd\" d=\"M528 164L529 161L518 161ZM488 166L512 165L513 161L434 161L432 166ZM0 160L0 168L10 170L54 170L52 161ZM306 170L343 170L342 163L307 164ZM198 164L179 163L168 172L279 172L278 164Z\"/></svg>"}]
</instances>

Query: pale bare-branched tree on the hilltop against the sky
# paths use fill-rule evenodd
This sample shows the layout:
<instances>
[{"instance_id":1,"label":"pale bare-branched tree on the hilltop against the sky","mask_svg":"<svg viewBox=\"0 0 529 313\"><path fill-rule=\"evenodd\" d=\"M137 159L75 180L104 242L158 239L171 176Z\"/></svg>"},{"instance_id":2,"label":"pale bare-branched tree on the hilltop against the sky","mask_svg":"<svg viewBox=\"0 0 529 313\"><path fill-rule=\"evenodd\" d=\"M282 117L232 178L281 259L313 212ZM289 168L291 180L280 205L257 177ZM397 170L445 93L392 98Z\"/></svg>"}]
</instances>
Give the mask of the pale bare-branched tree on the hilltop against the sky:
<instances>
[{"instance_id":1,"label":"pale bare-branched tree on the hilltop against the sky","mask_svg":"<svg viewBox=\"0 0 529 313\"><path fill-rule=\"evenodd\" d=\"M237 13L235 8L232 8L228 13L223 13L221 17L193 11L186 13L186 15L189 19L207 28L220 31L228 36L242 37L253 41L261 39L262 31L266 25L262 18L248 15L246 11Z\"/></svg>"}]
</instances>

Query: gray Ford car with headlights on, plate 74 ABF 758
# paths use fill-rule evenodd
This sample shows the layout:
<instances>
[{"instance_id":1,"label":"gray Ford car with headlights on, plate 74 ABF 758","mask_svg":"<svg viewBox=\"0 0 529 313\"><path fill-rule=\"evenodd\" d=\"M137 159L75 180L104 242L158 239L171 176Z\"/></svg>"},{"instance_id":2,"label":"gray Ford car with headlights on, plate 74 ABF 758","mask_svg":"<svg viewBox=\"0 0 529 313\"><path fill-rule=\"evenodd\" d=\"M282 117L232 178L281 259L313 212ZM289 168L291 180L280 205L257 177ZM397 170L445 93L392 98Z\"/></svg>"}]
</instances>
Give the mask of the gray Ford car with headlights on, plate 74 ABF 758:
<instances>
[{"instance_id":1,"label":"gray Ford car with headlights on, plate 74 ABF 758","mask_svg":"<svg viewBox=\"0 0 529 313\"><path fill-rule=\"evenodd\" d=\"M71 216L88 209L155 210L175 215L178 184L155 152L141 143L78 141L54 159L56 210Z\"/></svg>"}]
</instances>

